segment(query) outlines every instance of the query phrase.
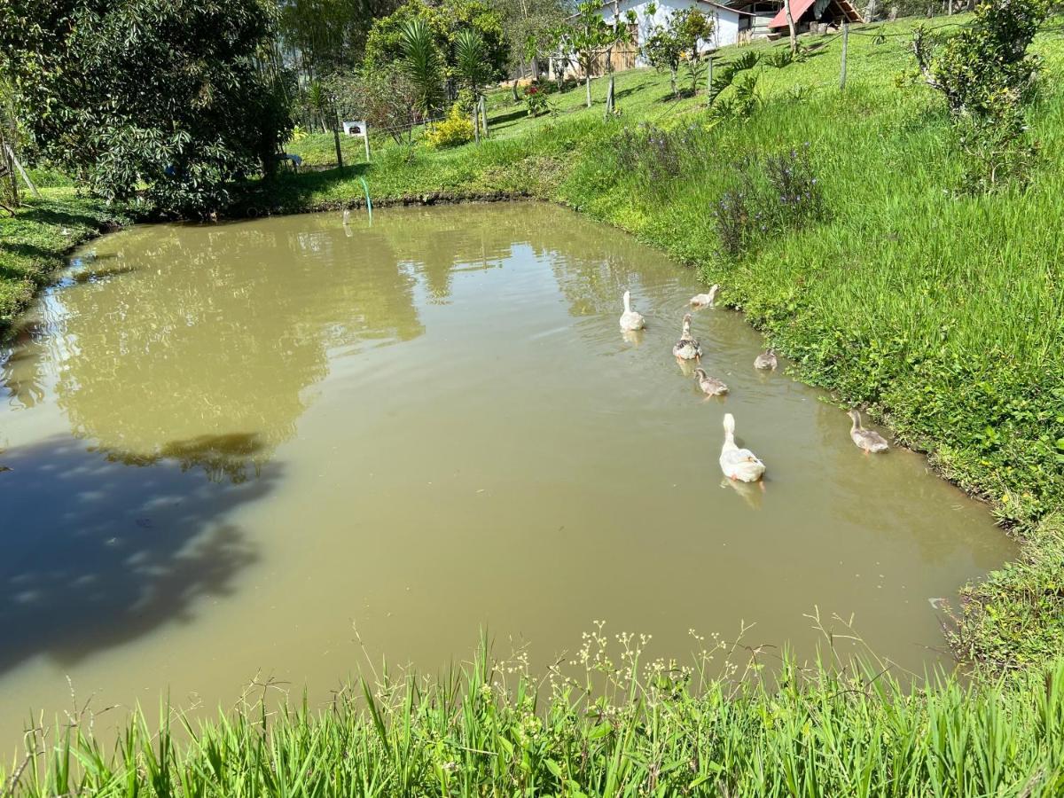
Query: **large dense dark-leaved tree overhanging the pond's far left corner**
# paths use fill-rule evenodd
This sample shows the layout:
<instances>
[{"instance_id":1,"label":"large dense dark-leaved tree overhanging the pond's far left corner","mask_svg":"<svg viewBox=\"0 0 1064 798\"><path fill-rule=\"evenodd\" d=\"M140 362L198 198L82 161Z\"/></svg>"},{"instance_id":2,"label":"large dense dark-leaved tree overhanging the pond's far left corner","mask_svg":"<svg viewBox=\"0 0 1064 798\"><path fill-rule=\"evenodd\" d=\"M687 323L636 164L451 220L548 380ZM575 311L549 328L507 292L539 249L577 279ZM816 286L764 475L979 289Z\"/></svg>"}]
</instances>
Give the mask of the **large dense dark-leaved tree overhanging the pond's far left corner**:
<instances>
[{"instance_id":1,"label":"large dense dark-leaved tree overhanging the pond's far left corner","mask_svg":"<svg viewBox=\"0 0 1064 798\"><path fill-rule=\"evenodd\" d=\"M41 154L107 200L209 214L290 130L269 0L0 0L0 71Z\"/></svg>"}]
</instances>

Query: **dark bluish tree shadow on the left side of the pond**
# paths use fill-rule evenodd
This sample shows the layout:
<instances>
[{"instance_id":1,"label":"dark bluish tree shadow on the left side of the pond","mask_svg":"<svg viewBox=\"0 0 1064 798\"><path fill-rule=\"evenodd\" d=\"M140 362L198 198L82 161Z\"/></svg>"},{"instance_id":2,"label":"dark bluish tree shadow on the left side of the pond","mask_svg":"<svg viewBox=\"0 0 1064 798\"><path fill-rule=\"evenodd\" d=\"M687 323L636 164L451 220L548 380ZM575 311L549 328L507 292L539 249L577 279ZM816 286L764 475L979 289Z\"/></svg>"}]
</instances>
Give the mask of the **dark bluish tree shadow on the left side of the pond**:
<instances>
[{"instance_id":1,"label":"dark bluish tree shadow on the left side of the pond","mask_svg":"<svg viewBox=\"0 0 1064 798\"><path fill-rule=\"evenodd\" d=\"M247 435L174 442L173 463L53 436L0 455L0 670L40 654L70 665L229 595L257 553L227 515L281 478L254 464L259 447Z\"/></svg>"}]
</instances>

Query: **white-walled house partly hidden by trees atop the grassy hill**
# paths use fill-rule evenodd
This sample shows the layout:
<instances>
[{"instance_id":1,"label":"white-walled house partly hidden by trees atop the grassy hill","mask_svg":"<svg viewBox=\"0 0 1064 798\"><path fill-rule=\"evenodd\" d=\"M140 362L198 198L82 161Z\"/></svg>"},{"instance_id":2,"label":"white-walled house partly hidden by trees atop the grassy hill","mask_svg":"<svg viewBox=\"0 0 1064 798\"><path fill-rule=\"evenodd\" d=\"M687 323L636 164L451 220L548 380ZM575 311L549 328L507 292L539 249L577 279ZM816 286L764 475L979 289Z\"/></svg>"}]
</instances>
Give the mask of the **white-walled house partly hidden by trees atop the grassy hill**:
<instances>
[{"instance_id":1,"label":"white-walled house partly hidden by trees atop the grassy hill","mask_svg":"<svg viewBox=\"0 0 1064 798\"><path fill-rule=\"evenodd\" d=\"M652 15L648 13L651 6L654 10ZM620 24L628 24L626 19L629 11L635 12L636 18L636 22L629 26L632 44L615 47L610 53L614 70L650 66L643 54L643 45L656 26L667 26L669 17L683 9L697 9L713 20L713 36L708 41L699 41L698 49L701 53L712 52L726 45L734 45L749 35L744 32L750 30L752 14L712 0L605 0L599 13L610 24L613 24L614 20L618 20ZM555 61L551 59L549 70L551 78L556 74L555 68L559 65ZM604 71L605 56L602 55L598 65L593 68L592 74L602 74ZM573 77L581 73L575 57L565 65L565 73Z\"/></svg>"}]
</instances>

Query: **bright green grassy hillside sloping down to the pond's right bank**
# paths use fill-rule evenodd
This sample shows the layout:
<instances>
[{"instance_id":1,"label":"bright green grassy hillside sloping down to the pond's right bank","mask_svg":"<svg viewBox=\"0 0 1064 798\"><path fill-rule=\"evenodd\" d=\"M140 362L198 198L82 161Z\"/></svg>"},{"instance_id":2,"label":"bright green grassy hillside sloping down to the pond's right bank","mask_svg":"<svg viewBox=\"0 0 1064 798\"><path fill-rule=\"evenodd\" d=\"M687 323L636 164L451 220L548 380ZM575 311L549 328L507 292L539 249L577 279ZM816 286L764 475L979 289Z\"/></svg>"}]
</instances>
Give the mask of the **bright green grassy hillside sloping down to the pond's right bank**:
<instances>
[{"instance_id":1,"label":"bright green grassy hillside sloping down to the pond's right bank","mask_svg":"<svg viewBox=\"0 0 1064 798\"><path fill-rule=\"evenodd\" d=\"M1034 47L1046 78L1032 114L1033 179L991 195L960 190L962 153L943 101L903 80L912 29L925 21L854 28L845 90L841 40L808 37L804 61L753 70L748 118L708 114L704 95L674 101L667 76L650 70L617 76L622 113L612 120L601 116L605 81L594 84L592 110L578 87L555 96L556 116L538 119L499 92L496 135L480 147L388 147L371 165L286 178L242 201L259 213L353 206L359 178L376 204L538 197L697 268L801 379L867 408L1024 542L1019 563L966 589L952 635L976 661L1021 667L1059 647L1064 631L1064 591L1045 565L1064 546L1051 517L1064 505L1064 230L1052 221L1064 215L1061 19ZM731 48L716 66L780 47ZM822 220L724 254L724 195L763 170L766 155L807 143Z\"/></svg>"}]
</instances>

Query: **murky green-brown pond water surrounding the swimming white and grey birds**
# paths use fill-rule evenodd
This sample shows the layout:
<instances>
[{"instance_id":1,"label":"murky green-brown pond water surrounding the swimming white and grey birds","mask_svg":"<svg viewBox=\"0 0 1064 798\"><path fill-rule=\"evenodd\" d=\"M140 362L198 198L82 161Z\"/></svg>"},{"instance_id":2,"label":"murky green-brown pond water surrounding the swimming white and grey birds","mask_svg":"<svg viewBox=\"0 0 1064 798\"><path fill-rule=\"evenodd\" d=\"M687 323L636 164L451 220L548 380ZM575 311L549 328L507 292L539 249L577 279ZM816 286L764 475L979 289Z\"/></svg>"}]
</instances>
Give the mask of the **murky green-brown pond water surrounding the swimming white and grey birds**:
<instances>
[{"instance_id":1,"label":"murky green-brown pond water surrounding the swimming white and grey birds","mask_svg":"<svg viewBox=\"0 0 1064 798\"><path fill-rule=\"evenodd\" d=\"M532 204L97 240L0 354L2 748L68 677L98 708L229 705L256 674L323 700L352 624L434 671L482 627L535 665L595 619L680 656L745 619L805 656L819 608L941 661L932 600L1010 544L922 458L863 455L824 394L755 372L738 314L696 314L732 392L703 401L670 354L698 289ZM764 491L721 481L726 410Z\"/></svg>"}]
</instances>

